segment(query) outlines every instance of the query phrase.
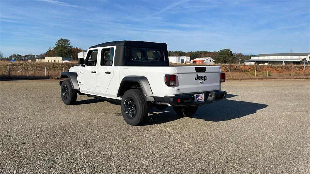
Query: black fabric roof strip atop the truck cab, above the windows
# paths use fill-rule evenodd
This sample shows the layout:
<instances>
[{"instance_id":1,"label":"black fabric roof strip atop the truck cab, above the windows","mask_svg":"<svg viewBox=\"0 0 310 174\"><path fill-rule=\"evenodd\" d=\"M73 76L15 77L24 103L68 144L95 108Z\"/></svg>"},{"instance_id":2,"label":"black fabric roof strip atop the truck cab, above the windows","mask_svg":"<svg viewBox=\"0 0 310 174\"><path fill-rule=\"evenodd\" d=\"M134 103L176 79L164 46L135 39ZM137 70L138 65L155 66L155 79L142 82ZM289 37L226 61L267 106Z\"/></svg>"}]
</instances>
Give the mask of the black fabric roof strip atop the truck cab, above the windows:
<instances>
[{"instance_id":1,"label":"black fabric roof strip atop the truck cab, above the windows","mask_svg":"<svg viewBox=\"0 0 310 174\"><path fill-rule=\"evenodd\" d=\"M151 48L167 48L167 44L165 43L157 43L157 42L144 42L144 41L113 41L113 42L105 42L102 44L98 44L95 46L91 46L89 48L97 48L104 46L138 46L138 47L151 47Z\"/></svg>"}]
</instances>

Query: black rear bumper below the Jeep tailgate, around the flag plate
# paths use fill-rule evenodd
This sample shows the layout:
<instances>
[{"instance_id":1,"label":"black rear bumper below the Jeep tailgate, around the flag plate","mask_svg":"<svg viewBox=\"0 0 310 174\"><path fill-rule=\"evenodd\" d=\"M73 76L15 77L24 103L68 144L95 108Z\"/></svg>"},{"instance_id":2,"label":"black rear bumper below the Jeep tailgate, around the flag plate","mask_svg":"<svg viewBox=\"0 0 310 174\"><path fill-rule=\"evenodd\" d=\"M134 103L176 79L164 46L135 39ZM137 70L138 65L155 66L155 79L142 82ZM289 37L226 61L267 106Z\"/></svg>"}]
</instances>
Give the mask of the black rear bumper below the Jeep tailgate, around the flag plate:
<instances>
[{"instance_id":1,"label":"black rear bumper below the Jeep tailgate, around the flag plate","mask_svg":"<svg viewBox=\"0 0 310 174\"><path fill-rule=\"evenodd\" d=\"M195 93L195 94L199 94L199 93ZM205 92L204 94L205 94L205 101L203 101L203 102L194 102L194 94L165 96L163 99L161 99L163 101L158 101L158 102L169 103L170 105L173 105L173 106L203 105L203 104L208 104L208 103L212 103L212 102L224 99L227 95L227 92L226 91L216 91L216 92ZM180 102L177 102L177 99L180 99Z\"/></svg>"}]
</instances>

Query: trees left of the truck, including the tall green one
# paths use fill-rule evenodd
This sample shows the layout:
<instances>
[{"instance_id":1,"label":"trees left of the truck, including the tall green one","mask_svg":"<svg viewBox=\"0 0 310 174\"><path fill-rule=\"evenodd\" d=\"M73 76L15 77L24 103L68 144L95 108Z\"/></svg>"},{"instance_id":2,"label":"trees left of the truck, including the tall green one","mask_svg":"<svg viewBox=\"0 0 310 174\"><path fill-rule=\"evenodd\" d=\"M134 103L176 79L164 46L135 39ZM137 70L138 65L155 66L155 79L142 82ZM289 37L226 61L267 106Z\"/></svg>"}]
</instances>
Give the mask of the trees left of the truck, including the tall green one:
<instances>
[{"instance_id":1,"label":"trees left of the truck, including the tall green one","mask_svg":"<svg viewBox=\"0 0 310 174\"><path fill-rule=\"evenodd\" d=\"M45 53L34 55L34 54L12 54L9 57L3 57L2 52L0 52L1 60L31 60L35 61L38 58L44 57L69 57L73 60L78 60L78 53L83 51L82 48L73 47L69 39L60 38L56 43L55 47L50 47Z\"/></svg>"}]
</instances>

